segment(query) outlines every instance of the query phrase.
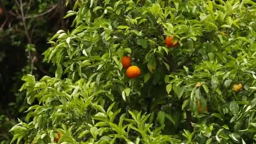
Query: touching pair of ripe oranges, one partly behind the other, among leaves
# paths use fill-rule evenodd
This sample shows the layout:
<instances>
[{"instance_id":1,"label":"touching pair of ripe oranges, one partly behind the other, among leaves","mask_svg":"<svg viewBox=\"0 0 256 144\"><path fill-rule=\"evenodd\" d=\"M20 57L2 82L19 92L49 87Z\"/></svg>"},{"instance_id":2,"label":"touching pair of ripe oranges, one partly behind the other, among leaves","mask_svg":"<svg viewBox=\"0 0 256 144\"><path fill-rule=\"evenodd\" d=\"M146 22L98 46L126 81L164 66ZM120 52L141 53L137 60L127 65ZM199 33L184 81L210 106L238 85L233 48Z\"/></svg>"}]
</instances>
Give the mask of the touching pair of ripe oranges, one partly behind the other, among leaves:
<instances>
[{"instance_id":1,"label":"touching pair of ripe oranges, one partly behind the other, among leaves","mask_svg":"<svg viewBox=\"0 0 256 144\"><path fill-rule=\"evenodd\" d=\"M128 56L123 56L121 59L123 68L126 69L126 75L128 78L136 78L141 74L141 70L137 66L131 65L131 58Z\"/></svg>"}]
</instances>

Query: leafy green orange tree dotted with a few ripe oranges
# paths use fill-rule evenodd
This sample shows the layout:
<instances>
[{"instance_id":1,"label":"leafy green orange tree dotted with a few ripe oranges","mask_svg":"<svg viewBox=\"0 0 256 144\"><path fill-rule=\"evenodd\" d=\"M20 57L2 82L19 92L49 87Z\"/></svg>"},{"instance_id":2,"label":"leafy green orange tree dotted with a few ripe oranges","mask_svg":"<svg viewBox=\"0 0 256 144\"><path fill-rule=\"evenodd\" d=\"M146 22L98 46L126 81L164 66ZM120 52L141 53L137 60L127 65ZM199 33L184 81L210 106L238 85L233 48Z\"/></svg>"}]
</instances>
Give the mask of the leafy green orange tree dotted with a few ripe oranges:
<instances>
[{"instance_id":1,"label":"leafy green orange tree dotted with a few ripe oranges","mask_svg":"<svg viewBox=\"0 0 256 144\"><path fill-rule=\"evenodd\" d=\"M54 143L59 132L58 144L253 144L255 6L77 0L65 16L74 29L44 53L55 77L22 79L31 107L13 141ZM123 56L139 77L126 76Z\"/></svg>"}]
</instances>

